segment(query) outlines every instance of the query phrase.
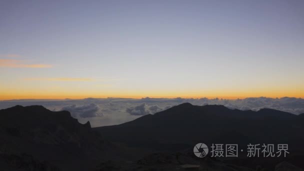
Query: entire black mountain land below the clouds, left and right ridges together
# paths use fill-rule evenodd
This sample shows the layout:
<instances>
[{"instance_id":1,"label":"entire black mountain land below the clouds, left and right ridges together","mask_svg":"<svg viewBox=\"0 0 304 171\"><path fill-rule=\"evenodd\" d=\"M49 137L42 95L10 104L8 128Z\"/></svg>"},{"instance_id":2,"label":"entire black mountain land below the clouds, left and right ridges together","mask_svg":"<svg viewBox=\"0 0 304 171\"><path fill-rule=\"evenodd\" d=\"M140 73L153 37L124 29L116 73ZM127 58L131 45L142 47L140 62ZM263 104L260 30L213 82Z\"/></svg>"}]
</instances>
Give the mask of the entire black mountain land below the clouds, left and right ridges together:
<instances>
[{"instance_id":1,"label":"entire black mountain land below the clouds, left and right ridges together","mask_svg":"<svg viewBox=\"0 0 304 171\"><path fill-rule=\"evenodd\" d=\"M303 116L183 103L126 123L91 128L68 111L16 105L0 110L0 170L252 170L257 165L301 170ZM242 149L248 143L286 143L290 157L198 158L193 146L199 142L209 147L236 143Z\"/></svg>"}]
</instances>

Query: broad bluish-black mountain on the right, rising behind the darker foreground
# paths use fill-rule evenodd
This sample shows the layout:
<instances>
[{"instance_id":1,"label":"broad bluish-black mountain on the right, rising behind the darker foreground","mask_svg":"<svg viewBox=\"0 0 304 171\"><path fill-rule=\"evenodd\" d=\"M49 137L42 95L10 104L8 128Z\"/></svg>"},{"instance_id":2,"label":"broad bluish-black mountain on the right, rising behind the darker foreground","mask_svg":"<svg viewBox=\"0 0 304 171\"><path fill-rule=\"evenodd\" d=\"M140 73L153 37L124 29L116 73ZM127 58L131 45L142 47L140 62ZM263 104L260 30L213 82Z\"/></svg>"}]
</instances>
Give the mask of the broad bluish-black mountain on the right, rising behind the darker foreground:
<instances>
[{"instance_id":1,"label":"broad bluish-black mountain on the right, rising behind the darker foreground","mask_svg":"<svg viewBox=\"0 0 304 171\"><path fill-rule=\"evenodd\" d=\"M176 151L196 143L246 145L287 143L302 152L304 118L275 109L229 109L223 105L182 103L155 114L111 126L93 128L111 141L155 150Z\"/></svg>"}]
</instances>

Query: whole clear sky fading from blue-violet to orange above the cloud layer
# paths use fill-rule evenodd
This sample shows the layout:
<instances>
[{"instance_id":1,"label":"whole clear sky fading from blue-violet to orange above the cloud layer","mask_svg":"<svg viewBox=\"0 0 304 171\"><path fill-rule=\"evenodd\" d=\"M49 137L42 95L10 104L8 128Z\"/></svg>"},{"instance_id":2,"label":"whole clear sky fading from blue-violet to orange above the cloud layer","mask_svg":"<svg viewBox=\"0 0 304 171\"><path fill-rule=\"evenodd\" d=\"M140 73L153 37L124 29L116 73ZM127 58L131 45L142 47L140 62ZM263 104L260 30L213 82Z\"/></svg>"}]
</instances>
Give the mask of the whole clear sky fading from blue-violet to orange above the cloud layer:
<instances>
[{"instance_id":1,"label":"whole clear sky fading from blue-violet to orange above the cloud layer","mask_svg":"<svg viewBox=\"0 0 304 171\"><path fill-rule=\"evenodd\" d=\"M0 99L304 97L303 0L1 0Z\"/></svg>"}]
</instances>

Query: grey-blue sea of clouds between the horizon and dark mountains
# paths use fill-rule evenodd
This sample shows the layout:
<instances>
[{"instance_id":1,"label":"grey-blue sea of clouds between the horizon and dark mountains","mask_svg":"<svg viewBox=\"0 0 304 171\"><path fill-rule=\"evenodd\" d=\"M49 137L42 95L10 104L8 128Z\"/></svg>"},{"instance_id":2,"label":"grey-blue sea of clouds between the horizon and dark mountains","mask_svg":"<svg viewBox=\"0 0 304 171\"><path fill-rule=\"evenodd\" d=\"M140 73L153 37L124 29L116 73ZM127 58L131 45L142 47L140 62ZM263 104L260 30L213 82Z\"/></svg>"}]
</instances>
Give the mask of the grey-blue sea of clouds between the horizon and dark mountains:
<instances>
[{"instance_id":1,"label":"grey-blue sea of clouds between the horizon and dark mountains","mask_svg":"<svg viewBox=\"0 0 304 171\"><path fill-rule=\"evenodd\" d=\"M64 100L2 100L0 109L14 105L43 105L53 110L67 110L79 122L90 121L92 127L120 124L145 114L153 114L174 105L190 102L193 105L221 104L240 110L273 108L293 114L304 113L304 99L294 97L268 98L250 97L244 99L221 98L84 98Z\"/></svg>"}]
</instances>

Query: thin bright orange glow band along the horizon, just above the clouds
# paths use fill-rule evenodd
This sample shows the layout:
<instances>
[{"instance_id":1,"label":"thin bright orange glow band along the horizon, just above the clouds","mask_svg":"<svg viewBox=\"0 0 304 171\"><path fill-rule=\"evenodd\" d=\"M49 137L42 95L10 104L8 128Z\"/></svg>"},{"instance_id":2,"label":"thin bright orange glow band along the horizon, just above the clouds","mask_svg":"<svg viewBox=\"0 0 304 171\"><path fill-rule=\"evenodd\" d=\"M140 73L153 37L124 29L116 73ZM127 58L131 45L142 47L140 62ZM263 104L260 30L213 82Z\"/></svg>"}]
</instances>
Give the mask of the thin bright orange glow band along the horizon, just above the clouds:
<instances>
[{"instance_id":1,"label":"thin bright orange glow band along the horizon, just above the clouds","mask_svg":"<svg viewBox=\"0 0 304 171\"><path fill-rule=\"evenodd\" d=\"M271 98L280 98L280 97L296 97L296 98L303 98L304 93L303 92L239 92L239 93L186 93L186 92L167 92L167 93L146 93L146 92L133 92L133 93L70 93L70 92L59 92L59 93L38 93L38 92L32 92L32 93L0 93L0 100L10 100L10 99L82 99L87 97L93 97L93 98L107 98L107 97L120 97L120 98L143 98L143 97L150 97L150 98L176 98L176 97L182 97L182 98L223 98L223 99L237 99L237 98L247 98L247 97L271 97ZM221 95L219 95L221 94Z\"/></svg>"}]
</instances>

